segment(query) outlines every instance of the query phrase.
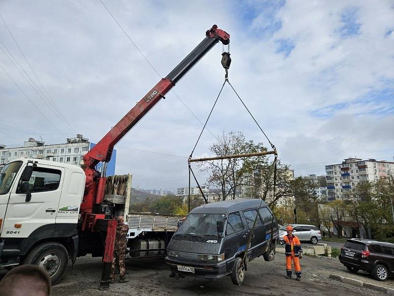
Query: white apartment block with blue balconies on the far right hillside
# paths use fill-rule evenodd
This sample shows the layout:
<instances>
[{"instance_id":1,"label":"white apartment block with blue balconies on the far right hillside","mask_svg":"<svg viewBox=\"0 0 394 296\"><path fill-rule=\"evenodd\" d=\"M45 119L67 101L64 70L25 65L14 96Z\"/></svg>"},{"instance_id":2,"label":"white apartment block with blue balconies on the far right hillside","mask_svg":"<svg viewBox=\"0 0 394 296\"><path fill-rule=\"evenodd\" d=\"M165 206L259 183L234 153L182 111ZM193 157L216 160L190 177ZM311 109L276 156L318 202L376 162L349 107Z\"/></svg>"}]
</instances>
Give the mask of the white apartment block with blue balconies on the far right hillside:
<instances>
[{"instance_id":1,"label":"white apartment block with blue balconies on the far right hillside","mask_svg":"<svg viewBox=\"0 0 394 296\"><path fill-rule=\"evenodd\" d=\"M355 187L394 173L394 162L376 159L347 158L339 164L326 166L328 201L349 199Z\"/></svg>"}]
</instances>

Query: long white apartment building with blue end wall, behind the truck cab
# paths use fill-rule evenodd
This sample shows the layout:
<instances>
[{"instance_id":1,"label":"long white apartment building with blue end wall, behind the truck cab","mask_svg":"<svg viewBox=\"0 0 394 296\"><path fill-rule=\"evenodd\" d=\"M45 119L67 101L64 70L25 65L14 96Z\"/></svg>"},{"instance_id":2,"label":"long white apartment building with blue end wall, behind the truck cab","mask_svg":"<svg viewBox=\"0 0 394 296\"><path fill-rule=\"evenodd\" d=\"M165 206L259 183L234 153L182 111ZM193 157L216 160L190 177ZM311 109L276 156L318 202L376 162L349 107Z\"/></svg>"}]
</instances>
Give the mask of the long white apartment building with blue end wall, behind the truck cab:
<instances>
[{"instance_id":1,"label":"long white apartment building with blue end wall, behind the truck cab","mask_svg":"<svg viewBox=\"0 0 394 296\"><path fill-rule=\"evenodd\" d=\"M45 145L45 142L29 138L23 147L8 147L0 145L0 165L13 161L19 157L38 158L64 162L74 165L82 164L83 156L96 144L77 134L75 138L65 139L66 143ZM111 161L107 165L107 176L115 175L116 150L112 153ZM100 163L96 169L101 171Z\"/></svg>"}]
</instances>

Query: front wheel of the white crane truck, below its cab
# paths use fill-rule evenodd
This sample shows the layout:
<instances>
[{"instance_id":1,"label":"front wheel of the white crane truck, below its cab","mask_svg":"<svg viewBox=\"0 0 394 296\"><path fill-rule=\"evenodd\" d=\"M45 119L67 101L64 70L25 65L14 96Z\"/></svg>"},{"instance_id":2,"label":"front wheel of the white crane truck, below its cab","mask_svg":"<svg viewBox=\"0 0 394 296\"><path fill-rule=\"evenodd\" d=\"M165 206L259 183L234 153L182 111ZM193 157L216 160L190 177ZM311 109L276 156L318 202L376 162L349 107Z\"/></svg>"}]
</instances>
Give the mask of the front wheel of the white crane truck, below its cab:
<instances>
[{"instance_id":1,"label":"front wheel of the white crane truck, below its cab","mask_svg":"<svg viewBox=\"0 0 394 296\"><path fill-rule=\"evenodd\" d=\"M33 264L44 268L51 278L52 285L55 285L66 273L68 252L62 244L43 243L29 252L23 264Z\"/></svg>"}]
</instances>

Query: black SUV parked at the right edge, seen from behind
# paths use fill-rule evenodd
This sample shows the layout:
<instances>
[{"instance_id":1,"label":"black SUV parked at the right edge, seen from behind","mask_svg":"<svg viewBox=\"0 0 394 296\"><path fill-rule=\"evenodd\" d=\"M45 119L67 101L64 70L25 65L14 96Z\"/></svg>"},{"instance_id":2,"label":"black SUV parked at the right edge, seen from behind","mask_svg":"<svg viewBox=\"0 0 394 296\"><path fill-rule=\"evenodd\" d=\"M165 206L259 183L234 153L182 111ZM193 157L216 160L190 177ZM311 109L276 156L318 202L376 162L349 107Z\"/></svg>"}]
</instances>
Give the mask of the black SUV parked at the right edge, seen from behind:
<instances>
[{"instance_id":1,"label":"black SUV parked at the right edge, seen from behind","mask_svg":"<svg viewBox=\"0 0 394 296\"><path fill-rule=\"evenodd\" d=\"M376 280L385 281L394 274L394 244L367 239L348 239L341 248L339 261L357 272L370 273Z\"/></svg>"}]
</instances>

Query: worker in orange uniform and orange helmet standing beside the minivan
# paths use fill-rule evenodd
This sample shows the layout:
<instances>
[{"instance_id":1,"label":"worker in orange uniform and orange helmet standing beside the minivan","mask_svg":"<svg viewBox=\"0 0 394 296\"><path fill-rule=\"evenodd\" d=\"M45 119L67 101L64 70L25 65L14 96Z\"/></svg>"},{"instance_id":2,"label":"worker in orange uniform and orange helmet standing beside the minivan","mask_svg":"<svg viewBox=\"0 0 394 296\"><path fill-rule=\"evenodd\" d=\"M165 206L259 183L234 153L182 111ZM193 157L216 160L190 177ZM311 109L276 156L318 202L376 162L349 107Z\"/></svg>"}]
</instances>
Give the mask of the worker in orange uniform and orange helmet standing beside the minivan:
<instances>
[{"instance_id":1,"label":"worker in orange uniform and orange helmet standing beside the minivan","mask_svg":"<svg viewBox=\"0 0 394 296\"><path fill-rule=\"evenodd\" d=\"M301 280L301 266L299 265L299 259L302 258L302 248L298 237L293 235L293 227L288 225L286 227L287 235L283 237L283 241L286 244L286 277L292 278L292 260L294 262L294 269L296 270L296 280Z\"/></svg>"}]
</instances>

